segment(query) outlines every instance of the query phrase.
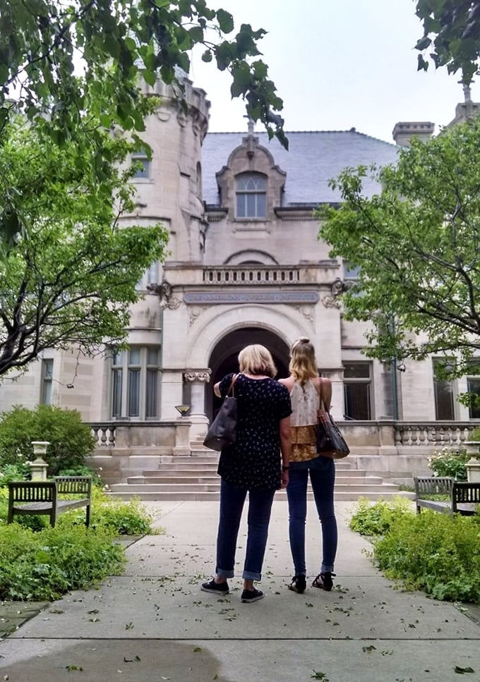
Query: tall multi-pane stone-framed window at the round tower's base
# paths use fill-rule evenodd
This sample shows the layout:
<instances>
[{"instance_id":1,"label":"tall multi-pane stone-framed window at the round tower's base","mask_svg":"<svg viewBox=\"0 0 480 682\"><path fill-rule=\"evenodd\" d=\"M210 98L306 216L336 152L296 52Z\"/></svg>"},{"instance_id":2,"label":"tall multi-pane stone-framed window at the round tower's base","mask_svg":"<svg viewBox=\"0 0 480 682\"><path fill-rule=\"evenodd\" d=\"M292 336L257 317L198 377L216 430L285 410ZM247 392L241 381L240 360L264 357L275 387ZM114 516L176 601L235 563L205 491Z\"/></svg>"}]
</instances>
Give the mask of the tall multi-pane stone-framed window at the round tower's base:
<instances>
[{"instance_id":1,"label":"tall multi-pane stone-framed window at the round tower's base","mask_svg":"<svg viewBox=\"0 0 480 682\"><path fill-rule=\"evenodd\" d=\"M158 416L157 347L134 346L112 359L112 416L155 419Z\"/></svg>"}]
</instances>

